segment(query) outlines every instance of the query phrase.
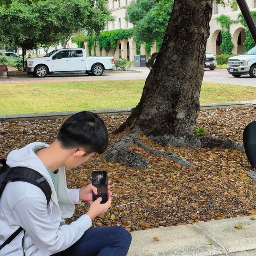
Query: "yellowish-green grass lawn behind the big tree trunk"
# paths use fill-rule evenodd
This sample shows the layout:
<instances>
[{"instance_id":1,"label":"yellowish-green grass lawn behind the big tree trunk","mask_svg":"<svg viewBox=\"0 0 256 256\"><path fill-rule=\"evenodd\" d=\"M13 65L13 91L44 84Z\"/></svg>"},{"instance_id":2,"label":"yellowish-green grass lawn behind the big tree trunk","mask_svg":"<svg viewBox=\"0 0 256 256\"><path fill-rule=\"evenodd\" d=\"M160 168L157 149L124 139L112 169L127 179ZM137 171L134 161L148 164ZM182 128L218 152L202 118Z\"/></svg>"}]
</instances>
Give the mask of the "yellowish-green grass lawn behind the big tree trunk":
<instances>
[{"instance_id":1,"label":"yellowish-green grass lawn behind the big tree trunk","mask_svg":"<svg viewBox=\"0 0 256 256\"><path fill-rule=\"evenodd\" d=\"M133 108L143 80L0 84L0 115ZM256 87L203 82L200 103L256 100Z\"/></svg>"}]
</instances>

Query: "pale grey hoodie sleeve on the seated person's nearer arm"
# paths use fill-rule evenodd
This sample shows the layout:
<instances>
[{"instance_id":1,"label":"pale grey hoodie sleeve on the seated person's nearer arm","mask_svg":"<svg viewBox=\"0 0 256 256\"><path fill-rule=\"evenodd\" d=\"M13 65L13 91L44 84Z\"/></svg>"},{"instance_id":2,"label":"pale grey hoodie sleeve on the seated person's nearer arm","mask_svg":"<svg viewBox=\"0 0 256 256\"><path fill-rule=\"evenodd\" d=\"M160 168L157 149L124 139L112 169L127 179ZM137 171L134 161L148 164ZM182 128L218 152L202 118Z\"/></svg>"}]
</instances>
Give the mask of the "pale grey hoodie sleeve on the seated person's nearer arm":
<instances>
[{"instance_id":1,"label":"pale grey hoodie sleeve on the seated person's nearer arm","mask_svg":"<svg viewBox=\"0 0 256 256\"><path fill-rule=\"evenodd\" d=\"M24 182L16 182L16 186L18 183ZM40 189L37 189L32 195L30 193L23 198L19 195L19 200L12 207L12 215L26 230L26 235L35 246L48 255L70 247L92 225L90 217L82 215L70 225L59 226L60 221L54 220L48 214L46 207L45 196Z\"/></svg>"}]
</instances>

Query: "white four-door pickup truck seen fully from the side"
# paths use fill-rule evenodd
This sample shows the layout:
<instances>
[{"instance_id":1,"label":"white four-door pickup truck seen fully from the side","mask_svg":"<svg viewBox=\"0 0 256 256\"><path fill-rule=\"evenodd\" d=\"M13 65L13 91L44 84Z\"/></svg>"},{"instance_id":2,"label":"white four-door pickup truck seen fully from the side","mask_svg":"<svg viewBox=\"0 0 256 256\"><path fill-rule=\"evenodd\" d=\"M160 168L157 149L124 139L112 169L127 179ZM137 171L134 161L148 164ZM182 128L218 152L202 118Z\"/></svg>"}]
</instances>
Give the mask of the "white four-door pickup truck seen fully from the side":
<instances>
[{"instance_id":1,"label":"white four-door pickup truck seen fully from the side","mask_svg":"<svg viewBox=\"0 0 256 256\"><path fill-rule=\"evenodd\" d=\"M113 56L86 56L82 48L58 49L40 58L30 58L24 63L24 71L37 77L60 72L86 72L101 76L104 70L111 70Z\"/></svg>"}]
</instances>

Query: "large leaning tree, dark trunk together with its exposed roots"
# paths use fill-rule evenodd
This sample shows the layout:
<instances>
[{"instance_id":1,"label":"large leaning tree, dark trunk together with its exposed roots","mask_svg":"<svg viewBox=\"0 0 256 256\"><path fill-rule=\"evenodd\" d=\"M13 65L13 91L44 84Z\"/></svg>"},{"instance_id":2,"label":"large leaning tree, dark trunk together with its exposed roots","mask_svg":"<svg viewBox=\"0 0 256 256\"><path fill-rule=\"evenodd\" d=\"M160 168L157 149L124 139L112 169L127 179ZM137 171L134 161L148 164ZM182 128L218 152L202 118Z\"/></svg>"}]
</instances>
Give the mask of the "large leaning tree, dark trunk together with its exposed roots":
<instances>
[{"instance_id":1,"label":"large leaning tree, dark trunk together with its exposed roots","mask_svg":"<svg viewBox=\"0 0 256 256\"><path fill-rule=\"evenodd\" d=\"M128 149L130 144L136 143L154 154L192 166L175 154L149 148L142 142L143 136L173 146L221 146L244 150L242 144L233 141L193 136L200 107L212 4L213 0L174 0L166 34L140 102L115 131L124 132L125 136L108 149L107 161L147 168L148 160Z\"/></svg>"}]
</instances>

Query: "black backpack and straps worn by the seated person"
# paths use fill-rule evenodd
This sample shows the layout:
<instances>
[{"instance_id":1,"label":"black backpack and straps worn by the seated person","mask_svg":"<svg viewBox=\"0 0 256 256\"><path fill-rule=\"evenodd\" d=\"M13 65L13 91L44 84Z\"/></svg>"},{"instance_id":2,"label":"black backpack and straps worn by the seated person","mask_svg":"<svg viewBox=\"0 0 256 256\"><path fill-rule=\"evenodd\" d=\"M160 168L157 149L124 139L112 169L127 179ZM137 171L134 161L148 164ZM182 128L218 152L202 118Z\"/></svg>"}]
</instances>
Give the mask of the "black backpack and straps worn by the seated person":
<instances>
[{"instance_id":1,"label":"black backpack and straps worn by the seated person","mask_svg":"<svg viewBox=\"0 0 256 256\"><path fill-rule=\"evenodd\" d=\"M47 180L36 170L27 168L27 167L14 167L10 168L6 164L5 159L0 159L0 197L2 192L7 184L8 181L15 182L15 181L24 181L31 183L44 192L47 200L47 204L49 204L51 199L52 190L47 182ZM1 199L1 198L0 198ZM1 201L0 201L1 203ZM1 246L0 250L6 245L12 242L12 240L22 231L24 230L22 227L18 228ZM25 233L25 230L24 230ZM22 239L22 247L23 247L23 239ZM25 254L24 254L25 255Z\"/></svg>"}]
</instances>

